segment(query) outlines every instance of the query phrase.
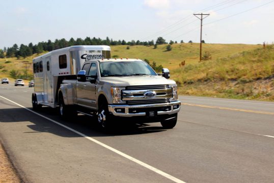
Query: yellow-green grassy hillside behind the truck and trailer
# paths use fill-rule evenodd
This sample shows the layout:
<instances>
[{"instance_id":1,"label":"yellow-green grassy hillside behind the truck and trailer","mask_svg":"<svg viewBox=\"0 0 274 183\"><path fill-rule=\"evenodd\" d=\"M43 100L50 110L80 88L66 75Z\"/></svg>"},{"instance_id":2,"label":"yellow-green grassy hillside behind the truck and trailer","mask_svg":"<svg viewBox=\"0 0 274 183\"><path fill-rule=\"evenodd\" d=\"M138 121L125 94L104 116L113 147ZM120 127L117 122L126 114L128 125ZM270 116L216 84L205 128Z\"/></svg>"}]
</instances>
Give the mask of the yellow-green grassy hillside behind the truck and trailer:
<instances>
[{"instance_id":1,"label":"yellow-green grassy hillside behind the truck and trailer","mask_svg":"<svg viewBox=\"0 0 274 183\"><path fill-rule=\"evenodd\" d=\"M111 47L112 57L147 59L169 68L180 94L274 100L273 45L203 44L203 55L207 51L211 59L202 62L198 43L173 44L171 51L167 45ZM34 57L0 59L0 77L10 77L12 69L32 75Z\"/></svg>"}]
</instances>

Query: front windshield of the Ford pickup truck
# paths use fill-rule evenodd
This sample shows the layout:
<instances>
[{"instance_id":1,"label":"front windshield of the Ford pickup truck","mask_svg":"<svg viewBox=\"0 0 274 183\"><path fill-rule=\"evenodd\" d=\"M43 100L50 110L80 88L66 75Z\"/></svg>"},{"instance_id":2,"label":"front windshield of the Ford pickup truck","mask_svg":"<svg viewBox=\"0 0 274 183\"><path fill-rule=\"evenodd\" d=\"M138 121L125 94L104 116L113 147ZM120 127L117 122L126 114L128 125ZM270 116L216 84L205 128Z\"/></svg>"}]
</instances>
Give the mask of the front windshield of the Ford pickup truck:
<instances>
[{"instance_id":1,"label":"front windshield of the Ford pickup truck","mask_svg":"<svg viewBox=\"0 0 274 183\"><path fill-rule=\"evenodd\" d=\"M157 75L157 73L144 61L100 62L100 73L101 77Z\"/></svg>"}]
</instances>

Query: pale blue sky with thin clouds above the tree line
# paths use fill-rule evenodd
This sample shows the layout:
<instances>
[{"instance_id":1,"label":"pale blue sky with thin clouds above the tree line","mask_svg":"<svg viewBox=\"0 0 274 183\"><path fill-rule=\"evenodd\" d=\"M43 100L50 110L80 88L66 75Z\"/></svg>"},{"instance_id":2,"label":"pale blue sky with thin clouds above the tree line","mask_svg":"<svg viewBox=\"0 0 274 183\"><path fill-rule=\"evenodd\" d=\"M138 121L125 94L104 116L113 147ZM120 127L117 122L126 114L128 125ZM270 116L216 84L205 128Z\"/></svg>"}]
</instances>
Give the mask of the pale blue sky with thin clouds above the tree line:
<instances>
[{"instance_id":1,"label":"pale blue sky with thin clouds above the tree line","mask_svg":"<svg viewBox=\"0 0 274 183\"><path fill-rule=\"evenodd\" d=\"M0 0L0 49L65 38L272 44L272 0ZM205 16L205 15L203 15Z\"/></svg>"}]
</instances>

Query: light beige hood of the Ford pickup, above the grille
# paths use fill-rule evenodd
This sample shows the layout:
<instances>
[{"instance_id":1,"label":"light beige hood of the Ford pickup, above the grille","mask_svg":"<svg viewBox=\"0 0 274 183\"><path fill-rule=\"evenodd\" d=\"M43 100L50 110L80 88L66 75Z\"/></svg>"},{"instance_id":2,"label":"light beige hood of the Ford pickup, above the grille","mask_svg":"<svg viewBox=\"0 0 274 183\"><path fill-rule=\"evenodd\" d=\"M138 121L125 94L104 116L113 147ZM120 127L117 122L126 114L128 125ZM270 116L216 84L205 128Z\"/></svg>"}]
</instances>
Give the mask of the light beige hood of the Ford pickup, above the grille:
<instances>
[{"instance_id":1,"label":"light beige hood of the Ford pickup, above the grille","mask_svg":"<svg viewBox=\"0 0 274 183\"><path fill-rule=\"evenodd\" d=\"M101 77L101 82L109 83L113 87L176 84L173 80L156 75Z\"/></svg>"}]
</instances>

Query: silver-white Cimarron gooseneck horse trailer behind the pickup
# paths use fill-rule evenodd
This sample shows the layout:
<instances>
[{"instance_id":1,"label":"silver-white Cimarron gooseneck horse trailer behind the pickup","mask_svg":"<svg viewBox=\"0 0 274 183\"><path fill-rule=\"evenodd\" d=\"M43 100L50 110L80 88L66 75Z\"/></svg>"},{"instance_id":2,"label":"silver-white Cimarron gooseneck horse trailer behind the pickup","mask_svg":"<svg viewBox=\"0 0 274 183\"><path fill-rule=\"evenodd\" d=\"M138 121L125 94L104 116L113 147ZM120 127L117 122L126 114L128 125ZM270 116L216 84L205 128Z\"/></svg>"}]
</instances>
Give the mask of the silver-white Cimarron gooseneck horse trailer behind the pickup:
<instances>
[{"instance_id":1,"label":"silver-white Cimarron gooseneck horse trailer behind the pickup","mask_svg":"<svg viewBox=\"0 0 274 183\"><path fill-rule=\"evenodd\" d=\"M111 58L111 47L70 46L50 51L33 59L34 93L32 103L34 109L41 106L56 108L58 106L58 90L64 79L75 79L83 63L91 59Z\"/></svg>"}]
</instances>

